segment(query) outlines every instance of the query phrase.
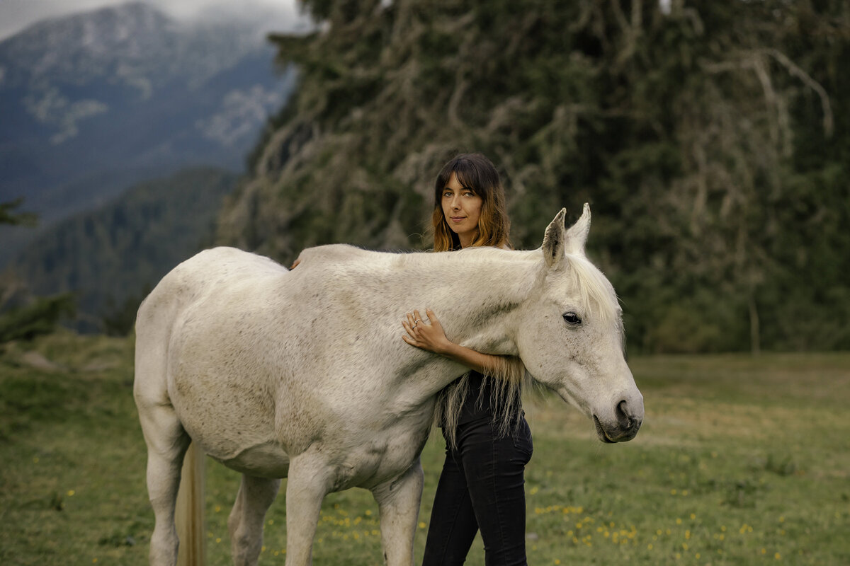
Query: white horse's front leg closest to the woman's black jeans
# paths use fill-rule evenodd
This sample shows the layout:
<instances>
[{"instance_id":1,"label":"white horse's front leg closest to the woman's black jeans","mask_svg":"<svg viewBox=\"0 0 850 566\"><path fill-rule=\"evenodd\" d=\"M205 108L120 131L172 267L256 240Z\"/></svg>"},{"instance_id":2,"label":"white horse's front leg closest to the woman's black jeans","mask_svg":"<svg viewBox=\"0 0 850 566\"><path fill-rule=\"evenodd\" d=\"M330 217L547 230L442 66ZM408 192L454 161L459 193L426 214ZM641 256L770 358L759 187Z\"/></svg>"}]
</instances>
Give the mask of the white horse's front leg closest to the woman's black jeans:
<instances>
[{"instance_id":1,"label":"white horse's front leg closest to the woman's black jeans","mask_svg":"<svg viewBox=\"0 0 850 566\"><path fill-rule=\"evenodd\" d=\"M422 463L416 458L404 474L372 490L381 516L381 543L387 566L413 565L413 537L423 482Z\"/></svg>"}]
</instances>

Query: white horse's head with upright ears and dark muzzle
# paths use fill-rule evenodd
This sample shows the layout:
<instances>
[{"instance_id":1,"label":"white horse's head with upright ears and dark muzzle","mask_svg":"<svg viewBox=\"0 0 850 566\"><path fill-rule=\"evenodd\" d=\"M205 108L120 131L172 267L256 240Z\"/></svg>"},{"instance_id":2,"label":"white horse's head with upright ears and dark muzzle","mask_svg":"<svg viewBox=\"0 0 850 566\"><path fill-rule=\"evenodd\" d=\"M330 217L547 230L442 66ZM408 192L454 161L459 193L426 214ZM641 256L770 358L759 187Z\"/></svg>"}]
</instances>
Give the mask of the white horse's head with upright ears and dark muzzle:
<instances>
[{"instance_id":1,"label":"white horse's head with upright ears and dark muzzle","mask_svg":"<svg viewBox=\"0 0 850 566\"><path fill-rule=\"evenodd\" d=\"M621 308L611 283L585 257L590 207L569 230L565 213L543 238L540 288L524 311L519 354L537 381L592 418L599 440L632 440L643 395L626 365Z\"/></svg>"}]
</instances>

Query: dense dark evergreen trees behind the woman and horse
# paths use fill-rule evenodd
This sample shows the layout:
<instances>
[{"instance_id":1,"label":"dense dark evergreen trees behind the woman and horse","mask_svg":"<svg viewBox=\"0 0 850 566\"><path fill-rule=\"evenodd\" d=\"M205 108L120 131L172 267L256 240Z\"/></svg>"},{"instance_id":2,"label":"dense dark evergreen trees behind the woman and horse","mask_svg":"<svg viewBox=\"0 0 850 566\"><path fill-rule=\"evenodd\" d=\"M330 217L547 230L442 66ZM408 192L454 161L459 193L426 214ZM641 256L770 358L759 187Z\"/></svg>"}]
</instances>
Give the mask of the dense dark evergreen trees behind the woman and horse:
<instances>
[{"instance_id":1,"label":"dense dark evergreen trees behind the woman and horse","mask_svg":"<svg viewBox=\"0 0 850 566\"><path fill-rule=\"evenodd\" d=\"M479 150L518 247L591 203L632 348L850 347L847 3L304 4L321 31L272 38L298 92L219 241L420 248L439 166Z\"/></svg>"}]
</instances>

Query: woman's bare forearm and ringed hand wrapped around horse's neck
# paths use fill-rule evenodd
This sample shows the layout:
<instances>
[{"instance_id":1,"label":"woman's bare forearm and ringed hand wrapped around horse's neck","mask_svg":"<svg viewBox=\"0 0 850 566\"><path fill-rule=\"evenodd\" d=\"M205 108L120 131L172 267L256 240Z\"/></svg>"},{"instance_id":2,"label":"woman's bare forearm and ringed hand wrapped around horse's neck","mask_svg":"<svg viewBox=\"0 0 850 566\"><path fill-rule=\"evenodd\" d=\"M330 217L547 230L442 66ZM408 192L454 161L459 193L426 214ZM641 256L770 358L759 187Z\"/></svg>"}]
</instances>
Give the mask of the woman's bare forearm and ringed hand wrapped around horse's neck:
<instances>
[{"instance_id":1,"label":"woman's bare forearm and ringed hand wrapped around horse's neck","mask_svg":"<svg viewBox=\"0 0 850 566\"><path fill-rule=\"evenodd\" d=\"M407 344L445 356L479 373L494 375L505 371L508 356L483 354L455 344L446 338L443 326L431 309L425 309L425 315L429 322L422 321L419 311L413 311L412 314L408 312L407 320L401 322L401 325L407 331L406 334L402 334L401 338Z\"/></svg>"}]
</instances>

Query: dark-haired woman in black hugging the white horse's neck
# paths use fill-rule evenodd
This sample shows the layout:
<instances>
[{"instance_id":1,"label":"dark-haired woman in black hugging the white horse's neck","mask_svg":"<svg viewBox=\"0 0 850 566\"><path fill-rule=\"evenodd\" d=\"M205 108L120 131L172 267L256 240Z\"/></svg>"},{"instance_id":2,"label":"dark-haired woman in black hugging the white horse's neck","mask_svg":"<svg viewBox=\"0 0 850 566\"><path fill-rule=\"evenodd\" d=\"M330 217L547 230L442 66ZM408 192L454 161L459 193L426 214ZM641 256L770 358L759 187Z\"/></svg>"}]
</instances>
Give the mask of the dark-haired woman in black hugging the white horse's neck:
<instances>
[{"instance_id":1,"label":"dark-haired woman in black hugging the white horse's neck","mask_svg":"<svg viewBox=\"0 0 850 566\"><path fill-rule=\"evenodd\" d=\"M509 248L504 189L484 155L450 160L439 172L434 193L434 251ZM445 464L422 564L462 564L478 530L488 566L525 564L524 468L532 444L520 398L524 367L517 358L450 342L433 311L425 312L425 320L419 311L407 314L405 342L472 371L439 395Z\"/></svg>"}]
</instances>

